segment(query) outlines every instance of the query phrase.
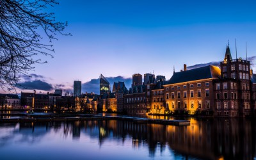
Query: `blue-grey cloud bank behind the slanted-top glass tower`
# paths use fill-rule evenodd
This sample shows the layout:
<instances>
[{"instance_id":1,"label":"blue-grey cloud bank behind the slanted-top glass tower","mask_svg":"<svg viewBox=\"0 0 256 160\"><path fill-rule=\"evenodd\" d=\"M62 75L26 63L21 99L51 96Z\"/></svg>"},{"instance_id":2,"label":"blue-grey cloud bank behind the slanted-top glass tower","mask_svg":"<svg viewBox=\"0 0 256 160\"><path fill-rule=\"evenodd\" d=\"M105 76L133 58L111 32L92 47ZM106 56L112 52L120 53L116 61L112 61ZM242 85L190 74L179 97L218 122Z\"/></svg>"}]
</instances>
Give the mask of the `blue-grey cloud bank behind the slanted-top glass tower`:
<instances>
[{"instance_id":1,"label":"blue-grey cloud bank behind the slanted-top glass tower","mask_svg":"<svg viewBox=\"0 0 256 160\"><path fill-rule=\"evenodd\" d=\"M125 86L127 89L130 88L132 84L132 78L125 78L122 76L117 76L117 77L106 77L106 79L109 81L111 85L111 90L113 88L113 83L118 82L118 81L124 81ZM82 92L94 92L96 94L99 94L100 90L100 79L92 79L91 81L88 81L86 83L82 84Z\"/></svg>"}]
</instances>

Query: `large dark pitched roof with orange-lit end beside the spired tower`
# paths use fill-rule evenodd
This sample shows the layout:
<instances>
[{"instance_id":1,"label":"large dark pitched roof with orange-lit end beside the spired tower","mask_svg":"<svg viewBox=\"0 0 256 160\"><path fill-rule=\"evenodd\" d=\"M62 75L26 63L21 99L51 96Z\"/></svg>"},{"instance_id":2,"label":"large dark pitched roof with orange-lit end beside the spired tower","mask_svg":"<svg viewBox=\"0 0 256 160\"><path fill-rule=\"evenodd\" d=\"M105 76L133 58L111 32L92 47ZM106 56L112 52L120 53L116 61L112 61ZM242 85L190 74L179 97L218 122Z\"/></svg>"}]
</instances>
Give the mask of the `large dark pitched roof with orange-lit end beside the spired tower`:
<instances>
[{"instance_id":1,"label":"large dark pitched roof with orange-lit end beside the spired tower","mask_svg":"<svg viewBox=\"0 0 256 160\"><path fill-rule=\"evenodd\" d=\"M208 78L219 78L220 77L220 68L208 65L205 67L194 68L191 70L185 70L182 72L175 72L173 76L168 81L168 84L174 83L183 83L188 81L196 81L200 79L208 79Z\"/></svg>"}]
</instances>

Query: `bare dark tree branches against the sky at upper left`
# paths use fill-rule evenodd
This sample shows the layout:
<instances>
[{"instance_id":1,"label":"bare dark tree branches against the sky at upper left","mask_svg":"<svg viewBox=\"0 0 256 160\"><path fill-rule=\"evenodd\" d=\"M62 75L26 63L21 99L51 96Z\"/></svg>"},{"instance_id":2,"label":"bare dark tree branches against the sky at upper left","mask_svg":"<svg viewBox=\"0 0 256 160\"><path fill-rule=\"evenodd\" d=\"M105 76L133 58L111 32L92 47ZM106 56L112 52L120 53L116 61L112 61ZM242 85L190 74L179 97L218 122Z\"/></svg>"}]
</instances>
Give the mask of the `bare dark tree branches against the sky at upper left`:
<instances>
[{"instance_id":1,"label":"bare dark tree branches against the sky at upper left","mask_svg":"<svg viewBox=\"0 0 256 160\"><path fill-rule=\"evenodd\" d=\"M49 7L55 0L0 0L0 86L15 88L20 76L35 63L47 63L38 55L52 56L52 40L64 34L67 22L55 20ZM45 41L44 39L47 38ZM44 40L44 42L42 42Z\"/></svg>"}]
</instances>

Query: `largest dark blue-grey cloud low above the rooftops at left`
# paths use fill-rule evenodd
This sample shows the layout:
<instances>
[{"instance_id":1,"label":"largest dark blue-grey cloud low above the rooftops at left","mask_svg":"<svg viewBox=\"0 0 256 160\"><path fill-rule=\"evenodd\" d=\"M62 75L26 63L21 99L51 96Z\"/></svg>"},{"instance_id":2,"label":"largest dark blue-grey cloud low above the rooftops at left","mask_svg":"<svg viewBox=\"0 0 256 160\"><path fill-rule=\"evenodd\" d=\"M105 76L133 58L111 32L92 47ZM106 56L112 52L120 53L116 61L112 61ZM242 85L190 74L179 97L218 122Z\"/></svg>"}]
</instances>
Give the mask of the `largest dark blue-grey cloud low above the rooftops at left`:
<instances>
[{"instance_id":1,"label":"largest dark blue-grey cloud low above the rooftops at left","mask_svg":"<svg viewBox=\"0 0 256 160\"><path fill-rule=\"evenodd\" d=\"M52 84L46 83L41 80L25 81L25 82L19 83L17 85L17 88L28 89L28 90L45 90L45 91L49 91L53 89Z\"/></svg>"}]
</instances>

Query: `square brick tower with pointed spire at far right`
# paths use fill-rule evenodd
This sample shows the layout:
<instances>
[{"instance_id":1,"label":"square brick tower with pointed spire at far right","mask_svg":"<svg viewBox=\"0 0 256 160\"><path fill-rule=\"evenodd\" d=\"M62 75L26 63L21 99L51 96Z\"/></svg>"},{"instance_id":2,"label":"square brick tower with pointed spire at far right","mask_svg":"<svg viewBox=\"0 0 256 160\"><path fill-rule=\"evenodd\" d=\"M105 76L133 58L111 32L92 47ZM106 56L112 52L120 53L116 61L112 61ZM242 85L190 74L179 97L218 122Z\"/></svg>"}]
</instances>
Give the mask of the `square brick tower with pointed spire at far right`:
<instances>
[{"instance_id":1,"label":"square brick tower with pointed spire at far right","mask_svg":"<svg viewBox=\"0 0 256 160\"><path fill-rule=\"evenodd\" d=\"M227 90L223 90L224 94L227 93L227 97L224 96L224 102L230 99L231 102L228 102L230 109L239 109L241 116L250 115L250 61L242 58L233 60L230 48L227 46L225 58L220 63L220 67L223 88L224 84L227 84ZM237 105L232 105L232 102L237 102Z\"/></svg>"}]
</instances>

